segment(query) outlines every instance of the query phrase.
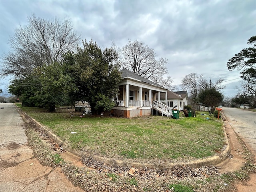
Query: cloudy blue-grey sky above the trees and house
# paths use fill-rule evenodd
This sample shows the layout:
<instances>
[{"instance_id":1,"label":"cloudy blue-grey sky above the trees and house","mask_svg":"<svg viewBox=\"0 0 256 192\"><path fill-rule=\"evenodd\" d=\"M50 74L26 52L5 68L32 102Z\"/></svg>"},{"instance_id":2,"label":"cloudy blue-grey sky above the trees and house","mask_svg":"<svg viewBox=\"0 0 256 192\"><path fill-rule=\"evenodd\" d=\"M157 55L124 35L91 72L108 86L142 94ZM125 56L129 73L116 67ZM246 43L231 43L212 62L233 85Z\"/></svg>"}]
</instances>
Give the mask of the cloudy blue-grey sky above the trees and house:
<instances>
[{"instance_id":1,"label":"cloudy blue-grey sky above the trees and house","mask_svg":"<svg viewBox=\"0 0 256 192\"><path fill-rule=\"evenodd\" d=\"M225 96L235 96L241 80L226 63L256 35L255 0L0 0L0 55L8 39L32 14L51 19L70 18L81 39L102 47L112 41L122 47L128 39L154 48L168 58L168 71L179 85L187 74L224 78ZM8 82L0 79L0 89Z\"/></svg>"}]
</instances>

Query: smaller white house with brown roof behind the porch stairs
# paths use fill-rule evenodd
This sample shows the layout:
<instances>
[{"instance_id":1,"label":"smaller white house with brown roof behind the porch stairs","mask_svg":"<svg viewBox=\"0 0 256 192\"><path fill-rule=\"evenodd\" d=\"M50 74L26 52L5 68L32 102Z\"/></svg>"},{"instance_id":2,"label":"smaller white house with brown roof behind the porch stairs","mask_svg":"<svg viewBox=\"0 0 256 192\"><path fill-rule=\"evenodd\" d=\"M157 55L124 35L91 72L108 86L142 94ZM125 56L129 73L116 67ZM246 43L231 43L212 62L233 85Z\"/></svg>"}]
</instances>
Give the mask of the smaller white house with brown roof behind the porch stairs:
<instances>
[{"instance_id":1,"label":"smaller white house with brown roof behind the porch stairs","mask_svg":"<svg viewBox=\"0 0 256 192\"><path fill-rule=\"evenodd\" d=\"M161 102L166 104L165 96L161 94ZM183 110L184 106L188 105L188 93L187 91L167 91L167 106L173 108L177 106L177 110Z\"/></svg>"}]
</instances>

